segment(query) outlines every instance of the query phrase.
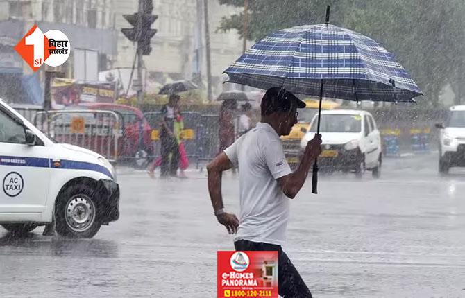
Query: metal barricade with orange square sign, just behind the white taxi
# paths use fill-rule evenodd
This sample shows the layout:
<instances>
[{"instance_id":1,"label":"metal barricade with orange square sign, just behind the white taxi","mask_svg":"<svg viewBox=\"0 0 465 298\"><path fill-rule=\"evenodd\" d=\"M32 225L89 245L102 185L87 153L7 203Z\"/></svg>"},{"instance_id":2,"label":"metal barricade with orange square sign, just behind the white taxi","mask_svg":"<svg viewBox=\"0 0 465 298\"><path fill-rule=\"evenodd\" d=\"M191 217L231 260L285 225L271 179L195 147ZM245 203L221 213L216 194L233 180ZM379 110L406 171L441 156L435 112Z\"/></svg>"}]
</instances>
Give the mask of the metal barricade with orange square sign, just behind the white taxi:
<instances>
[{"instance_id":1,"label":"metal barricade with orange square sign, just behind the white taxi","mask_svg":"<svg viewBox=\"0 0 465 298\"><path fill-rule=\"evenodd\" d=\"M124 146L124 119L104 110L37 112L33 124L58 143L69 143L116 162Z\"/></svg>"}]
</instances>

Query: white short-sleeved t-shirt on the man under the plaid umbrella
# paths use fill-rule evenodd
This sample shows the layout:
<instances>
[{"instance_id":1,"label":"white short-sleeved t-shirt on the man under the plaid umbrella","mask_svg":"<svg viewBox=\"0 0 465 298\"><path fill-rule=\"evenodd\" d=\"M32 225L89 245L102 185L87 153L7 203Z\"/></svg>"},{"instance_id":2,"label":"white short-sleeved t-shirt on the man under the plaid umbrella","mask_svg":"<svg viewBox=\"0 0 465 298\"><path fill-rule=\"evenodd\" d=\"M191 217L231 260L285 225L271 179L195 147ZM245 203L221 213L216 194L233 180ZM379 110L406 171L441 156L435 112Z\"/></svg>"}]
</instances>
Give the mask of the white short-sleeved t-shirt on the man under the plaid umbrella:
<instances>
[{"instance_id":1,"label":"white short-sleeved t-shirt on the man under the plaid umbrella","mask_svg":"<svg viewBox=\"0 0 465 298\"><path fill-rule=\"evenodd\" d=\"M236 240L283 245L290 199L276 180L292 171L280 137L270 125L259 122L224 152L239 166L240 214Z\"/></svg>"}]
</instances>

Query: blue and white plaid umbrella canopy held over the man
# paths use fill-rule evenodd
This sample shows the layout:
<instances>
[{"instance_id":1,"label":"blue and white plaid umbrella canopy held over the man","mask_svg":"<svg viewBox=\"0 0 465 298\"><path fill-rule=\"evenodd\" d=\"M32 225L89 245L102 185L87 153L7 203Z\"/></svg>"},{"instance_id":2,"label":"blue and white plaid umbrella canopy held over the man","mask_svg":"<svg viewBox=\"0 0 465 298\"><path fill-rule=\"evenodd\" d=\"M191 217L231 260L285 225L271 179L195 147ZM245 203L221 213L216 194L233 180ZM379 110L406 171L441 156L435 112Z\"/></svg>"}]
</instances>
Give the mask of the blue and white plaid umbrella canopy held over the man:
<instances>
[{"instance_id":1,"label":"blue and white plaid umbrella canopy held over the man","mask_svg":"<svg viewBox=\"0 0 465 298\"><path fill-rule=\"evenodd\" d=\"M389 51L369 37L329 24L279 30L224 73L237 84L346 100L409 102L422 95Z\"/></svg>"}]
</instances>

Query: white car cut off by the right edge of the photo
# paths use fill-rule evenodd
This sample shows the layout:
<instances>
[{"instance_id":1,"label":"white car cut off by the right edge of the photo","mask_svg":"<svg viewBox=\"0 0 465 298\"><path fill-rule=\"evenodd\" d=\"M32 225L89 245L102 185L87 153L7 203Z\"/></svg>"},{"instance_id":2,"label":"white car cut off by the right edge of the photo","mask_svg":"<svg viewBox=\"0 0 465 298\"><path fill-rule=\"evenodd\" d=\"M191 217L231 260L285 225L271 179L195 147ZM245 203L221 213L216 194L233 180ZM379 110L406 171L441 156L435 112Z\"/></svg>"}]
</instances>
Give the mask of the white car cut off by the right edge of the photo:
<instances>
[{"instance_id":1,"label":"white car cut off by the right edge of the photo","mask_svg":"<svg viewBox=\"0 0 465 298\"><path fill-rule=\"evenodd\" d=\"M438 123L439 173L453 166L465 166L465 105L450 107L445 123Z\"/></svg>"}]
</instances>

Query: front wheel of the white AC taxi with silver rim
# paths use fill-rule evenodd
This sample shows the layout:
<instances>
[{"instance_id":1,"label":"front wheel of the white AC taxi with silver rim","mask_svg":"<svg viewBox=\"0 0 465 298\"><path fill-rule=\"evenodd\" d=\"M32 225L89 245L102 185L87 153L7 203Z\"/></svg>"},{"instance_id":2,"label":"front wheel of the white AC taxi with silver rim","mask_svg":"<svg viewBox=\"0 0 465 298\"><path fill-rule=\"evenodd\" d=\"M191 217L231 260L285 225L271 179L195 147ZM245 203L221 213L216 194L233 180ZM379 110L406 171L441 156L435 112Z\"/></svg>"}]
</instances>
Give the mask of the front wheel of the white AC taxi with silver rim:
<instances>
[{"instance_id":1,"label":"front wheel of the white AC taxi with silver rim","mask_svg":"<svg viewBox=\"0 0 465 298\"><path fill-rule=\"evenodd\" d=\"M99 231L96 191L87 184L75 184L60 193L55 207L56 231L69 238L92 238Z\"/></svg>"}]
</instances>

